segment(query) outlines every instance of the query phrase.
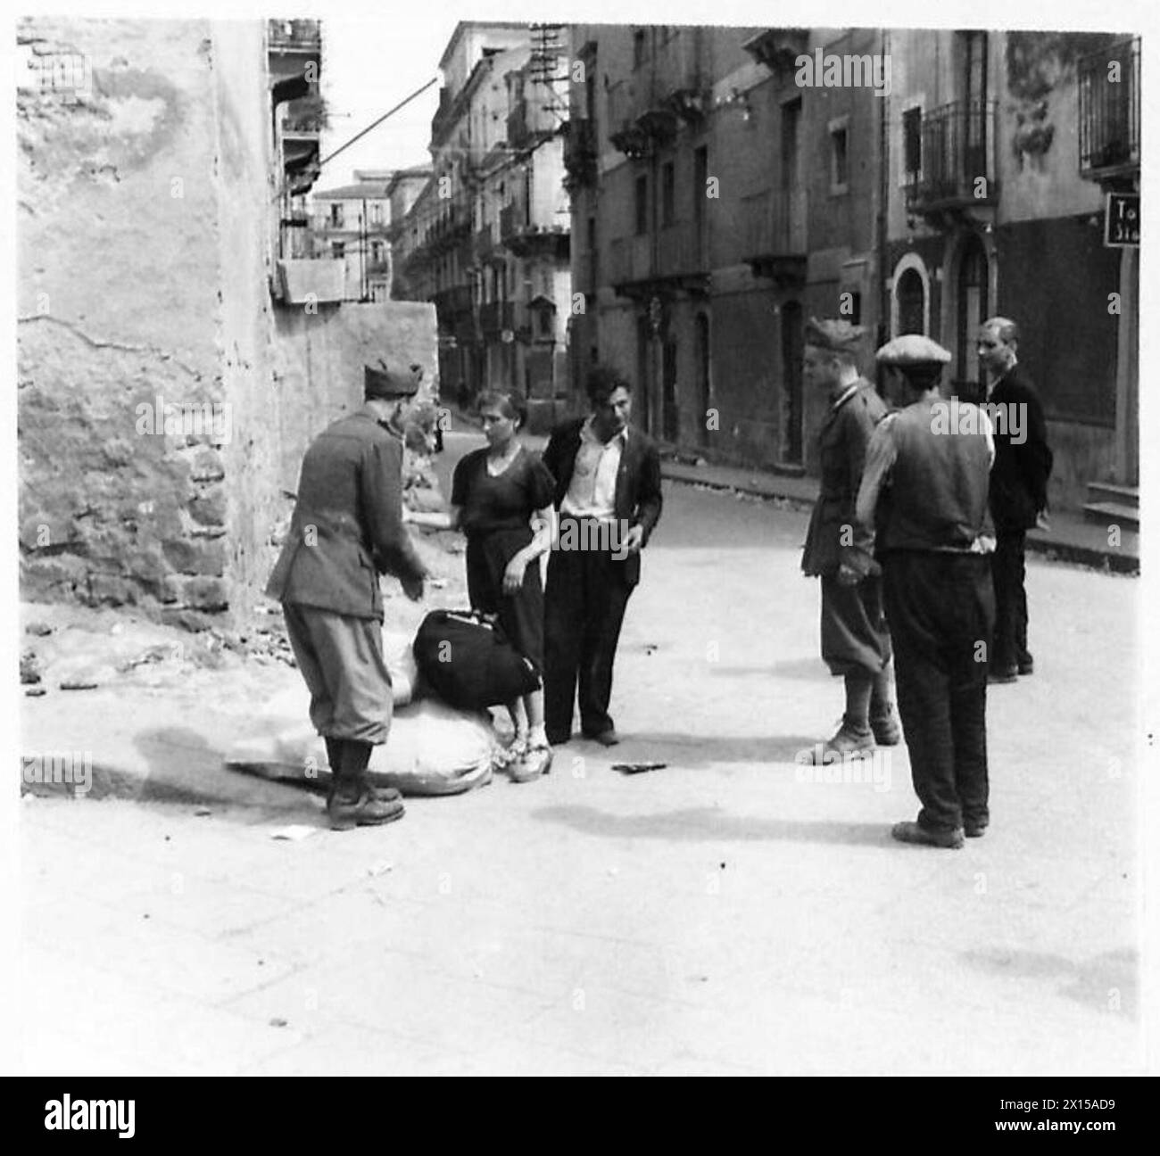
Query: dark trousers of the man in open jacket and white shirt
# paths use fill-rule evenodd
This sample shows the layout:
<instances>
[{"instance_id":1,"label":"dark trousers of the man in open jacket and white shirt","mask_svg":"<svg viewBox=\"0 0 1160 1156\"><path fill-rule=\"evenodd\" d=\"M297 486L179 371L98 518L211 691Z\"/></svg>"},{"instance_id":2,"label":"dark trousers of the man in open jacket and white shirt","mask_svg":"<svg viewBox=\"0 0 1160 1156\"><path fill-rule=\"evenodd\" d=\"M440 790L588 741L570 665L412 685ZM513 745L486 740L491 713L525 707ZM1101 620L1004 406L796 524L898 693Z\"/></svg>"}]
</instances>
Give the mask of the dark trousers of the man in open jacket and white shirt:
<instances>
[{"instance_id":1,"label":"dark trousers of the man in open jacket and white shirt","mask_svg":"<svg viewBox=\"0 0 1160 1156\"><path fill-rule=\"evenodd\" d=\"M544 591L544 729L549 739L566 740L572 734L578 682L581 730L597 735L612 727L608 713L612 663L632 589L623 560L615 559L611 550L552 551Z\"/></svg>"}]
</instances>

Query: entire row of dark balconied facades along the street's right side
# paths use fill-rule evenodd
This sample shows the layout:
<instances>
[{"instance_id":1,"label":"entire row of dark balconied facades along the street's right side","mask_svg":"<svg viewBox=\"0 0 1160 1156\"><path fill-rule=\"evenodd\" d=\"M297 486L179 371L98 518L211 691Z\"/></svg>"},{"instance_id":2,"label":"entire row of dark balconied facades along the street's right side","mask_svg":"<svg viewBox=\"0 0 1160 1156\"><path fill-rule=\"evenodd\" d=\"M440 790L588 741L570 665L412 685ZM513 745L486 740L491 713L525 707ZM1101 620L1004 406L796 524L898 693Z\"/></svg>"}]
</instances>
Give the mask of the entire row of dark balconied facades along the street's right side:
<instances>
[{"instance_id":1,"label":"entire row of dark balconied facades along the street's right side","mask_svg":"<svg viewBox=\"0 0 1160 1156\"><path fill-rule=\"evenodd\" d=\"M972 395L978 321L1003 313L1051 421L1053 502L1115 481L1094 496L1136 504L1136 249L1102 231L1103 194L1138 189L1137 42L575 26L572 43L577 394L610 361L679 451L814 472L811 314L868 327L871 376L876 344L929 334Z\"/></svg>"}]
</instances>

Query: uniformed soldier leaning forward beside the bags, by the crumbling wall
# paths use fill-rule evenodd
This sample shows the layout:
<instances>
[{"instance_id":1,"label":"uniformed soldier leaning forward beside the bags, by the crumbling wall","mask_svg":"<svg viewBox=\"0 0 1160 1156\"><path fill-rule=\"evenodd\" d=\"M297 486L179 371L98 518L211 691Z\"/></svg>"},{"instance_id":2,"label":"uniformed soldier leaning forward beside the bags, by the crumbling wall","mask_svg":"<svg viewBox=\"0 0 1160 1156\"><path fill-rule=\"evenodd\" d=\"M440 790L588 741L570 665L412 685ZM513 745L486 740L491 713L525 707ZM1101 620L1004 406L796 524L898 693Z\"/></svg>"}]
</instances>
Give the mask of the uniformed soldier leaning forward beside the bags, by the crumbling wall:
<instances>
[{"instance_id":1,"label":"uniformed soldier leaning forward beside the bags, by the crumbling wall","mask_svg":"<svg viewBox=\"0 0 1160 1156\"><path fill-rule=\"evenodd\" d=\"M391 722L383 660L379 574L393 574L412 602L427 572L403 524L403 426L419 379L367 366L364 405L327 427L302 464L290 532L266 592L282 602L310 719L326 740L334 830L403 815L398 792L367 778Z\"/></svg>"}]
</instances>

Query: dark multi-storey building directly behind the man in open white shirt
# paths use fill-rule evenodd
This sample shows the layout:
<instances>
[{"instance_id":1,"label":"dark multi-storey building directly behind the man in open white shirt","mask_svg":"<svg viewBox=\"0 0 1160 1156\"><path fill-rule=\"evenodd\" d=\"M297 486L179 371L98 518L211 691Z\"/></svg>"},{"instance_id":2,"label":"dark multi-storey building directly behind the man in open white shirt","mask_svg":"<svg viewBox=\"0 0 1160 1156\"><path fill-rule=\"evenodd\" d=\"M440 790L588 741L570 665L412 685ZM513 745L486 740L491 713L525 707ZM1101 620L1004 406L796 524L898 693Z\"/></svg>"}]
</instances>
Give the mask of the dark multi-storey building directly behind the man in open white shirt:
<instances>
[{"instance_id":1,"label":"dark multi-storey building directly behind the man in open white shirt","mask_svg":"<svg viewBox=\"0 0 1160 1156\"><path fill-rule=\"evenodd\" d=\"M778 61L822 43L774 35ZM878 137L860 94L771 71L764 36L573 29L585 66L566 150L585 295L573 380L612 362L636 381L637 420L665 442L802 473L825 406L802 386L804 320L878 326ZM828 43L862 52L875 38Z\"/></svg>"}]
</instances>

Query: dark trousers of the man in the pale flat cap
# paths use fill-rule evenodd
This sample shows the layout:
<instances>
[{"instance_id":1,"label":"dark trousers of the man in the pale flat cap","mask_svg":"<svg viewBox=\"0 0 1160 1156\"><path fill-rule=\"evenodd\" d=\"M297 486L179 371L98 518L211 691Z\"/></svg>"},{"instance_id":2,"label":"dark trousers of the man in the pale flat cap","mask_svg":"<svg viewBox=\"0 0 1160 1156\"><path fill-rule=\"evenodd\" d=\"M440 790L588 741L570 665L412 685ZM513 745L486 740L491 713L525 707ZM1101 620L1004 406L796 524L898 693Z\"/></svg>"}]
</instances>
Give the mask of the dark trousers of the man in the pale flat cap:
<instances>
[{"instance_id":1,"label":"dark trousers of the man in the pale flat cap","mask_svg":"<svg viewBox=\"0 0 1160 1156\"><path fill-rule=\"evenodd\" d=\"M994 590L986 554L898 551L883 558L898 713L919 823L986 826L987 642Z\"/></svg>"}]
</instances>

